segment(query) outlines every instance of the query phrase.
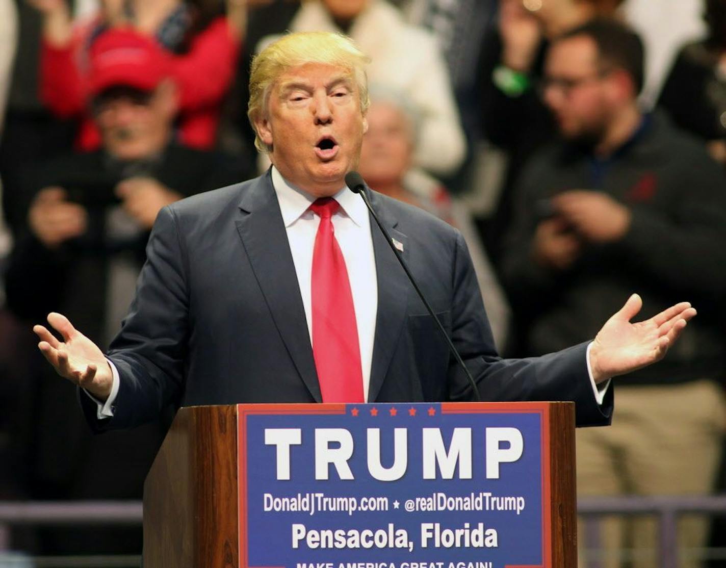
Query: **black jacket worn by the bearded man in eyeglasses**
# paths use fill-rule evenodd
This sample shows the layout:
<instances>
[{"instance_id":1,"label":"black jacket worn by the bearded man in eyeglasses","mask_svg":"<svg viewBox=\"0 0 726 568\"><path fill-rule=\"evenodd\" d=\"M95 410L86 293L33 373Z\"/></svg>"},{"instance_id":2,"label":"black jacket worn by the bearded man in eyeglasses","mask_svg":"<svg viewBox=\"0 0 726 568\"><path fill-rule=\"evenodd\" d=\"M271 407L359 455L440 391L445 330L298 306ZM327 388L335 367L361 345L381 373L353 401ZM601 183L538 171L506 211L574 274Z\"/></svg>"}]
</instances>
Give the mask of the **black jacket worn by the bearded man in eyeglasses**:
<instances>
[{"instance_id":1,"label":"black jacket worn by the bearded man in eyeglasses","mask_svg":"<svg viewBox=\"0 0 726 568\"><path fill-rule=\"evenodd\" d=\"M566 271L544 269L531 258L534 231L547 198L574 189L627 204L631 227L617 242L588 246ZM677 301L691 301L698 316L663 362L619 382L724 376L726 178L700 142L653 115L607 164L566 143L541 150L516 191L502 272L529 352L592 338L637 292L644 302L638 320Z\"/></svg>"}]
</instances>

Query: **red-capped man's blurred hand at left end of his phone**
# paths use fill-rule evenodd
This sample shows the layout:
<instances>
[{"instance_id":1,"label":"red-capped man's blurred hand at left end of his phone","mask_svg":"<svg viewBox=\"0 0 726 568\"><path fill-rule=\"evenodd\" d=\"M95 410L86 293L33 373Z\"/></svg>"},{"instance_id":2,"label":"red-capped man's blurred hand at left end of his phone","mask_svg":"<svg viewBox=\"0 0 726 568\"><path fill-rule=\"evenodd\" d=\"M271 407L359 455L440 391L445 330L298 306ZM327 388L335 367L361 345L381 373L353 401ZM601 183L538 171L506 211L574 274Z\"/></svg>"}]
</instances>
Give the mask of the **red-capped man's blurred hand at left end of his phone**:
<instances>
[{"instance_id":1,"label":"red-capped man's blurred hand at left end of his phone","mask_svg":"<svg viewBox=\"0 0 726 568\"><path fill-rule=\"evenodd\" d=\"M68 201L61 187L46 187L30 205L28 224L44 246L56 248L86 232L88 212L78 203Z\"/></svg>"}]
</instances>

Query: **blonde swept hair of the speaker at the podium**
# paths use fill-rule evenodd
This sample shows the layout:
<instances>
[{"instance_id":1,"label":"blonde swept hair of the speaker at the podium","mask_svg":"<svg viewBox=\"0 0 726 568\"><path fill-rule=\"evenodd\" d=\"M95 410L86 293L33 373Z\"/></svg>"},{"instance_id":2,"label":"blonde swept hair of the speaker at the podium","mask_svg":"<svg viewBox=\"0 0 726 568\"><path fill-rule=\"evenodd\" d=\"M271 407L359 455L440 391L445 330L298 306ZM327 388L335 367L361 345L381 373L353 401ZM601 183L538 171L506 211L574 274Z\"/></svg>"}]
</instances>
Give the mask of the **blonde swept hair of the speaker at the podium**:
<instances>
[{"instance_id":1,"label":"blonde swept hair of the speaker at the podium","mask_svg":"<svg viewBox=\"0 0 726 568\"><path fill-rule=\"evenodd\" d=\"M360 97L361 113L370 105L365 65L370 57L364 54L354 41L342 33L322 31L288 33L266 46L252 60L250 68L250 102L247 116L255 131L255 147L260 152L270 152L259 137L255 121L266 113L269 93L277 78L285 71L305 65L321 63L348 70L356 80Z\"/></svg>"}]
</instances>

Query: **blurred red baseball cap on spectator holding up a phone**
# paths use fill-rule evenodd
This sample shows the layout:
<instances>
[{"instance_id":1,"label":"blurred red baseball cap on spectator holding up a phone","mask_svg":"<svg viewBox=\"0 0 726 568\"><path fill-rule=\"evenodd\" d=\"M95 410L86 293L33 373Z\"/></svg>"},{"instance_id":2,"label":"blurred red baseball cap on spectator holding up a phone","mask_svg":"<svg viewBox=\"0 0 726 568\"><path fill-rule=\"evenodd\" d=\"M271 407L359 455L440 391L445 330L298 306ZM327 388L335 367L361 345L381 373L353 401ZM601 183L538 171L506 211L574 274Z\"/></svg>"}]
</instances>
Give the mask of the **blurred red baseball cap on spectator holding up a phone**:
<instances>
[{"instance_id":1,"label":"blurred red baseball cap on spectator holding up a phone","mask_svg":"<svg viewBox=\"0 0 726 568\"><path fill-rule=\"evenodd\" d=\"M103 32L91 45L89 59L92 97L112 86L152 91L169 75L168 54L154 38L129 28Z\"/></svg>"}]
</instances>

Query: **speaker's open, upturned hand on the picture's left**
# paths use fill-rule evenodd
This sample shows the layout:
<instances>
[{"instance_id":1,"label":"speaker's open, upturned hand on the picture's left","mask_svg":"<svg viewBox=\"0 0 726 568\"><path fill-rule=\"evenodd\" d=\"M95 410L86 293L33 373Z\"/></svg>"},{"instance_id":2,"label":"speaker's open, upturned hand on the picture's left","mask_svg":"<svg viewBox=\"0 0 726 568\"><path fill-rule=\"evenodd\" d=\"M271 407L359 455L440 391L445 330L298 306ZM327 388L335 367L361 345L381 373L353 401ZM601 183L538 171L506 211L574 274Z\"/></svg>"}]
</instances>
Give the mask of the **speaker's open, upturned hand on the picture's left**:
<instances>
[{"instance_id":1,"label":"speaker's open, upturned hand on the picture's left","mask_svg":"<svg viewBox=\"0 0 726 568\"><path fill-rule=\"evenodd\" d=\"M76 330L64 315L52 312L48 323L63 341L58 341L43 325L36 325L33 331L41 340L38 349L60 376L105 401L111 394L113 373L101 349Z\"/></svg>"}]
</instances>

